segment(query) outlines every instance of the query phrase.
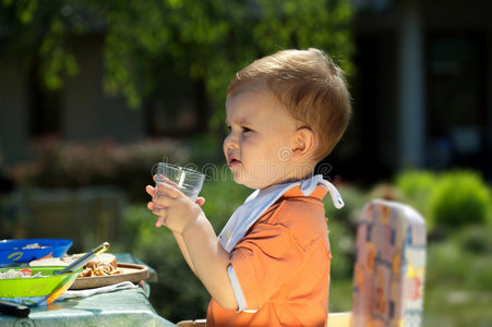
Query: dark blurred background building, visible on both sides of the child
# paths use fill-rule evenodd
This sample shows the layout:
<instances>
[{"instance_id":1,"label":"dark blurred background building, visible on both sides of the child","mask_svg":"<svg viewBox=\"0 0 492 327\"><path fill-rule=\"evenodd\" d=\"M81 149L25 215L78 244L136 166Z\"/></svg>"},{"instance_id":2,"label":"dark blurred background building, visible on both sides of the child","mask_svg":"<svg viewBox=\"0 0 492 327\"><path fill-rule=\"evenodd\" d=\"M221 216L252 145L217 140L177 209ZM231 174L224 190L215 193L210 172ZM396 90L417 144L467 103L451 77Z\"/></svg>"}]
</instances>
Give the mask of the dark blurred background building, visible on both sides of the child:
<instances>
[{"instance_id":1,"label":"dark blurred background building, visible on both sides of the child","mask_svg":"<svg viewBox=\"0 0 492 327\"><path fill-rule=\"evenodd\" d=\"M338 173L364 180L405 167L467 167L492 174L492 1L352 0L357 74L352 124L336 149ZM44 135L120 143L199 124L188 99L173 121L131 110L101 88L103 37L74 40L80 73L43 90L0 47L3 165L31 157ZM156 105L158 106L158 105Z\"/></svg>"}]
</instances>

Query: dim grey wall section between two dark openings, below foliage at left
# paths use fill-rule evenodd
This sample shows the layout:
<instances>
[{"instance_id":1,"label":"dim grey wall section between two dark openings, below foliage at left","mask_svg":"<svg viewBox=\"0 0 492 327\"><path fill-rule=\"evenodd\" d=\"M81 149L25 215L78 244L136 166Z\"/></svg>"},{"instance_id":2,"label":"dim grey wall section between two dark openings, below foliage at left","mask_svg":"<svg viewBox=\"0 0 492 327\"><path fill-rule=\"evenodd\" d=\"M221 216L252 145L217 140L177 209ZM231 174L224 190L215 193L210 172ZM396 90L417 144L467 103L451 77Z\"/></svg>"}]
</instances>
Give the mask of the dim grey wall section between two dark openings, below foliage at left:
<instances>
[{"instance_id":1,"label":"dim grey wall section between two dark openings, below foliage at left","mask_svg":"<svg viewBox=\"0 0 492 327\"><path fill-rule=\"evenodd\" d=\"M71 43L79 74L62 89L62 130L67 141L128 143L145 137L143 110L130 109L122 96L104 93L103 37L77 37Z\"/></svg>"}]
</instances>

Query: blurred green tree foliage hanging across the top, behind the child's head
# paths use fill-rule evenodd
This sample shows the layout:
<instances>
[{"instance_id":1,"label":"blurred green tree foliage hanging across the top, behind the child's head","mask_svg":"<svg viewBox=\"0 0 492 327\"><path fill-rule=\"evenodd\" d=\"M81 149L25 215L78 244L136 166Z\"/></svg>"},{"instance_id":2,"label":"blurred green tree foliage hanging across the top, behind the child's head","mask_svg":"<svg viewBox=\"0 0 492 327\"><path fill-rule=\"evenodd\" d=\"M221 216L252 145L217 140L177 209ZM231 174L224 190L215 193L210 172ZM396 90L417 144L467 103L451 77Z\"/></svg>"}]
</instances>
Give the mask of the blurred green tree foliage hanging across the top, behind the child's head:
<instances>
[{"instance_id":1,"label":"blurred green tree foliage hanging across the top, behind the child's head","mask_svg":"<svg viewBox=\"0 0 492 327\"><path fill-rule=\"evenodd\" d=\"M350 71L349 2L3 0L0 28L4 48L24 53L26 65L36 62L49 88L77 73L70 37L101 33L106 93L122 94L140 108L172 97L182 85L177 81L185 81L195 89L195 106L217 128L230 77L259 56L316 47Z\"/></svg>"}]
</instances>

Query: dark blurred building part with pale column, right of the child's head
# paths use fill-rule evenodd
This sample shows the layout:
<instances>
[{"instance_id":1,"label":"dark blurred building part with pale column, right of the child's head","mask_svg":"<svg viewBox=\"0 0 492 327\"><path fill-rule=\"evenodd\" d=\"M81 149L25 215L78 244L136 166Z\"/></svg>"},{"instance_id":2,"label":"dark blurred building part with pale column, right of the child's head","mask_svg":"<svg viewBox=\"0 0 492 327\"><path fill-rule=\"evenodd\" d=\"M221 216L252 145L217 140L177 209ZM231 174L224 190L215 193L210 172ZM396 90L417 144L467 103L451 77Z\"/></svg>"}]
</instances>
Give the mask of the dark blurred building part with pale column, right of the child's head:
<instances>
[{"instance_id":1,"label":"dark blurred building part with pale column, right of the child's head","mask_svg":"<svg viewBox=\"0 0 492 327\"><path fill-rule=\"evenodd\" d=\"M356 156L492 174L492 1L353 0Z\"/></svg>"}]
</instances>

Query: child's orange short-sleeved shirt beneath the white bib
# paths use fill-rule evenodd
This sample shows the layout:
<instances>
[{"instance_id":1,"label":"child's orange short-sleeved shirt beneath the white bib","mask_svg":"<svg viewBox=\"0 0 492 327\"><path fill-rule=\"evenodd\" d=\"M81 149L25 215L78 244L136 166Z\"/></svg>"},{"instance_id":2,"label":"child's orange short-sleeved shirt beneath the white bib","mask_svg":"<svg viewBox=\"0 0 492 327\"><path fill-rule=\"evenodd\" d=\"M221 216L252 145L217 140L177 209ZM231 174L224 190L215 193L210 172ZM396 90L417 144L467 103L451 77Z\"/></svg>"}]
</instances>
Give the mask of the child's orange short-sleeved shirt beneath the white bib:
<instances>
[{"instance_id":1,"label":"child's orange short-sleeved shirt beneath the white bib","mask_svg":"<svg viewBox=\"0 0 492 327\"><path fill-rule=\"evenodd\" d=\"M242 312L213 299L207 326L325 326L331 251L323 197L287 191L250 228L230 264L244 296Z\"/></svg>"}]
</instances>

